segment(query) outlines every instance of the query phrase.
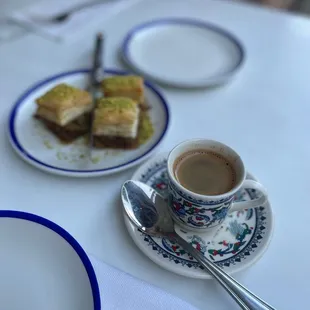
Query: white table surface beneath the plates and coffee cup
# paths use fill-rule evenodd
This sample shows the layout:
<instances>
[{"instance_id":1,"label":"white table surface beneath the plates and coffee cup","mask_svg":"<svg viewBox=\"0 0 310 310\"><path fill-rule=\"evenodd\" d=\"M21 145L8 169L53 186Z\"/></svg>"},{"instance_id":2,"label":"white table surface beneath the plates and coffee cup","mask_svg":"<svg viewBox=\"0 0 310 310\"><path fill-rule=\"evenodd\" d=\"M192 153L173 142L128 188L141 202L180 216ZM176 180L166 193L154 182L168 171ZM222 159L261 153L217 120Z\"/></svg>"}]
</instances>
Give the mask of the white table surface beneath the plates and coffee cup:
<instances>
[{"instance_id":1,"label":"white table surface beneath the plates and coffee cup","mask_svg":"<svg viewBox=\"0 0 310 310\"><path fill-rule=\"evenodd\" d=\"M22 5L22 1L1 3L0 11ZM239 76L223 88L163 89L172 126L161 150L193 137L218 139L238 150L248 170L269 190L276 227L264 257L236 278L278 309L306 309L310 293L306 196L310 190L310 20L303 17L233 2L142 0L109 22L99 22L89 36L71 45L34 34L0 44L1 209L51 219L89 253L199 309L237 309L214 281L167 272L134 245L119 203L120 186L134 169L96 179L49 175L20 160L5 135L9 110L25 88L48 75L90 64L95 31L107 33L106 64L121 66L117 49L126 32L137 23L164 16L200 18L226 27L243 42L247 60Z\"/></svg>"}]
</instances>

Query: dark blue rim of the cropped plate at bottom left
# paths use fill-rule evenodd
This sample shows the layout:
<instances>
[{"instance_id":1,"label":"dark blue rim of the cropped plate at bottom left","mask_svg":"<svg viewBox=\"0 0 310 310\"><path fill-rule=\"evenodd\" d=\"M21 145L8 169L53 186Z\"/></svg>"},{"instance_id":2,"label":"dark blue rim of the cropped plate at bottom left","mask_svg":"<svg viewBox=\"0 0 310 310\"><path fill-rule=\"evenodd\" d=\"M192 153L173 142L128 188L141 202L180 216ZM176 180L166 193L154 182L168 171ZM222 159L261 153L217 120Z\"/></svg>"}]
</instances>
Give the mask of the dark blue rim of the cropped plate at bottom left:
<instances>
[{"instance_id":1,"label":"dark blue rim of the cropped plate at bottom left","mask_svg":"<svg viewBox=\"0 0 310 310\"><path fill-rule=\"evenodd\" d=\"M40 224L42 226L51 229L60 237L65 239L71 245L76 254L80 257L84 265L84 268L87 272L93 295L94 310L101 309L99 285L92 263L89 260L85 251L83 250L83 248L80 246L80 244L66 230L61 228L59 225L51 222L50 220L32 213L11 211L11 210L0 210L0 218L1 217L17 218Z\"/></svg>"}]
</instances>

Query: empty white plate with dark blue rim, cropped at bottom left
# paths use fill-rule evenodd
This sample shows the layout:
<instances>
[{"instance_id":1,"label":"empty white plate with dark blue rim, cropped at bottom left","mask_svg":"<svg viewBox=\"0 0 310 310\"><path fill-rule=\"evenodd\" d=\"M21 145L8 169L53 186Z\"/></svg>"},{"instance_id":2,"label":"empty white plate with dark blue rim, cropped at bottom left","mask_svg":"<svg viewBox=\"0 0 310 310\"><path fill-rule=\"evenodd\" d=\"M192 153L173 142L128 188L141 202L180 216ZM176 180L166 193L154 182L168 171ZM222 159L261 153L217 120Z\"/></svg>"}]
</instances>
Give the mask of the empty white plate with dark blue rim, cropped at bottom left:
<instances>
[{"instance_id":1,"label":"empty white plate with dark blue rim, cropped at bottom left","mask_svg":"<svg viewBox=\"0 0 310 310\"><path fill-rule=\"evenodd\" d=\"M0 211L1 309L100 310L92 264L63 228L40 216Z\"/></svg>"}]
</instances>

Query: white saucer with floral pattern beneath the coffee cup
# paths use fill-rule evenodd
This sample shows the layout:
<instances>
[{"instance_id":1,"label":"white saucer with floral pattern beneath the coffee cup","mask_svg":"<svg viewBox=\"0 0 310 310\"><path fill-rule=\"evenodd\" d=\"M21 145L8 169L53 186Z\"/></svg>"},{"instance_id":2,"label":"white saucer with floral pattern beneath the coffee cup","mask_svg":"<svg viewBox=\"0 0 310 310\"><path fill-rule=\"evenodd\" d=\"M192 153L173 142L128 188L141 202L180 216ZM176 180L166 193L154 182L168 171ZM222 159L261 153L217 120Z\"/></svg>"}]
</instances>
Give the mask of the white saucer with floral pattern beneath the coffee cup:
<instances>
[{"instance_id":1,"label":"white saucer with floral pattern beneath the coffee cup","mask_svg":"<svg viewBox=\"0 0 310 310\"><path fill-rule=\"evenodd\" d=\"M142 165L132 179L144 182L167 197L167 155L159 155ZM255 179L248 174L249 179ZM237 200L254 199L254 190L239 192ZM139 231L124 215L125 224L139 249L159 266L177 274L199 279L210 279L198 262L178 244L166 238L151 237ZM265 252L272 237L273 214L270 203L256 209L234 212L219 228L208 233L175 229L196 249L232 274L254 264Z\"/></svg>"}]
</instances>

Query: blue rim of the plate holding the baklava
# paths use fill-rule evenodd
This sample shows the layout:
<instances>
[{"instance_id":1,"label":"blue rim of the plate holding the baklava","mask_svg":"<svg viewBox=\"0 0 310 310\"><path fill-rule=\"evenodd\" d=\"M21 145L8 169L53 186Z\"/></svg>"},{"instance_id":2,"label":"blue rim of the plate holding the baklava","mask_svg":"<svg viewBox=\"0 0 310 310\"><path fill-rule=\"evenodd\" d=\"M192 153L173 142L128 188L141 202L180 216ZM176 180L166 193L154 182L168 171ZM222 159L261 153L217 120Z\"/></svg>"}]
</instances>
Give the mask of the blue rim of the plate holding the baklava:
<instances>
[{"instance_id":1,"label":"blue rim of the plate holding the baklava","mask_svg":"<svg viewBox=\"0 0 310 310\"><path fill-rule=\"evenodd\" d=\"M35 164L39 165L39 166L43 166L45 168L50 168L53 170L57 170L60 172L70 172L70 173L77 173L77 174L86 174L86 173L100 173L100 172L106 172L106 171L112 171L115 169L119 169L131 164L134 164L135 162L138 162L139 160L143 159L144 157L146 157L148 154L150 154L158 145L159 143L162 141L162 139L164 138L167 130L168 130L168 126L169 126L169 122L170 122L170 112L169 112L169 108L168 108L168 104L166 99L163 97L163 95L160 93L160 91L150 82L148 81L144 81L144 85L146 87L148 87L149 89L151 89L160 99L163 108L165 110L166 116L167 116L167 121L165 124L165 128L162 132L162 134L160 135L160 137L158 138L158 140L154 143L154 145L148 149L145 153L143 153L142 155L138 156L135 159L132 159L124 164L121 165L116 165L113 167L109 167L109 168L104 168L104 169L90 169L90 170L78 170L78 169L66 169L66 168L59 168L57 166L52 166L49 165L47 163L42 162L41 160L35 158L34 156L32 156L31 154L29 154L27 152L27 150L25 150L22 145L19 143L17 135L16 135L16 131L15 131L15 118L16 118L16 114L18 113L18 110L20 108L20 106L23 104L24 100L27 99L28 96L30 96L34 91L36 91L38 88L40 88L41 86L52 82L53 80L65 77L65 76L69 76L69 75L74 75L74 74L79 74L79 73L89 73L90 70L89 69L80 69L80 70L72 70L72 71L67 71L67 72L63 72L60 74L56 74L53 75L47 79L44 79L38 83L36 83L34 86L30 87L29 89L27 89L16 101L16 103L14 104L11 113L10 113L10 117L9 117L9 137L11 140L12 145L21 153L20 155L24 158L27 159L28 161L32 161ZM115 70L115 69L106 69L104 70L105 73L108 74L115 74L115 75L127 75L130 74L129 72L126 71L122 71L122 70Z\"/></svg>"}]
</instances>

